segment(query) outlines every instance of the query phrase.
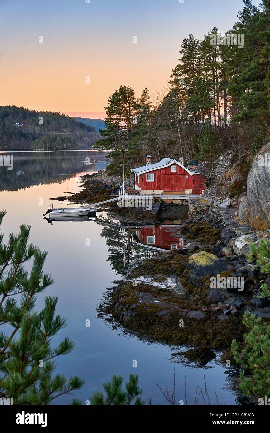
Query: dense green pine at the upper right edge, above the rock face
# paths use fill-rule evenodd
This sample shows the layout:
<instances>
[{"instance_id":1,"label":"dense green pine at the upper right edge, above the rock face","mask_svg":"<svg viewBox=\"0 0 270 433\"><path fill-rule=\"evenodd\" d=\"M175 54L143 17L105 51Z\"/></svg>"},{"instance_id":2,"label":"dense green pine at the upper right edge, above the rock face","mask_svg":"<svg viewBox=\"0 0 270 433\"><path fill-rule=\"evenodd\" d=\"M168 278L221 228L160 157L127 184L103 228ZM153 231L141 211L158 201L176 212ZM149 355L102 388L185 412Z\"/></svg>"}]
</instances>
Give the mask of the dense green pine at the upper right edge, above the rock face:
<instances>
[{"instance_id":1,"label":"dense green pine at the upper right edge, above the rock face","mask_svg":"<svg viewBox=\"0 0 270 433\"><path fill-rule=\"evenodd\" d=\"M234 120L251 119L263 124L270 132L270 0L263 0L262 10L244 1L239 13L237 32L244 34L241 62L237 61L237 76L232 81L238 110ZM237 56L238 57L238 56ZM234 58L234 61L237 59Z\"/></svg>"}]
</instances>

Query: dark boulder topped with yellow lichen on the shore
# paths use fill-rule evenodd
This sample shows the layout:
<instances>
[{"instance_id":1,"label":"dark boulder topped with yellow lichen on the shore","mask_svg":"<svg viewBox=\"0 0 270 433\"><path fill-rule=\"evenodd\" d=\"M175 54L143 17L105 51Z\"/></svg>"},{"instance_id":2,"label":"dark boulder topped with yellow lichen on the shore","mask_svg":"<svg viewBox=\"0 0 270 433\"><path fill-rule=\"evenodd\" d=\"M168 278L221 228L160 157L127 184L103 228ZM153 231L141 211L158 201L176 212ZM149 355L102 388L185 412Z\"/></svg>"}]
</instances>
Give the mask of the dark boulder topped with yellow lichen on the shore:
<instances>
[{"instance_id":1,"label":"dark boulder topped with yellow lichen on the shore","mask_svg":"<svg viewBox=\"0 0 270 433\"><path fill-rule=\"evenodd\" d=\"M193 284L200 286L203 277L229 271L231 270L231 266L227 262L224 262L224 260L218 259L216 255L210 252L200 251L190 256L186 269L191 270L189 280Z\"/></svg>"}]
</instances>

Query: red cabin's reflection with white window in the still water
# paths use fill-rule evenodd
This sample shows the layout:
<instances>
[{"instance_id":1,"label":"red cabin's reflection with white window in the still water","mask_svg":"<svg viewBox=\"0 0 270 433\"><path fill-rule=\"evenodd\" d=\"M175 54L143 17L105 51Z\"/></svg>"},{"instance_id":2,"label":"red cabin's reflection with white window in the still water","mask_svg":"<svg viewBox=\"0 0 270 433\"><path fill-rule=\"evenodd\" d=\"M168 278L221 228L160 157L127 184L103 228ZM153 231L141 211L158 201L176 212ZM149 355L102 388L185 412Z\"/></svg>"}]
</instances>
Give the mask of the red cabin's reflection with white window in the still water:
<instances>
[{"instance_id":1,"label":"red cabin's reflection with white window in the still water","mask_svg":"<svg viewBox=\"0 0 270 433\"><path fill-rule=\"evenodd\" d=\"M168 226L146 226L137 229L133 237L138 246L158 251L169 251L181 249L186 242L179 236L179 233L169 231Z\"/></svg>"}]
</instances>

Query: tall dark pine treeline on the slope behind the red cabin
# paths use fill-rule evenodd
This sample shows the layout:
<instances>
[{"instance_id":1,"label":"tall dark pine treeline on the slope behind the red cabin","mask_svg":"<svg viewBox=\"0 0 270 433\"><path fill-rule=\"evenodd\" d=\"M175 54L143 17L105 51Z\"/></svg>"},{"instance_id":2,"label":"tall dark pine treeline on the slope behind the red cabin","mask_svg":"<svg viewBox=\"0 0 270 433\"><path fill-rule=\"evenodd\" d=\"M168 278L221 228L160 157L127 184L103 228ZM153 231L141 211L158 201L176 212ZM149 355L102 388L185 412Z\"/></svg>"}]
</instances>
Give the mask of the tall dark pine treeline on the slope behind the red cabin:
<instances>
[{"instance_id":1,"label":"tall dark pine treeline on the slope behind the red cabin","mask_svg":"<svg viewBox=\"0 0 270 433\"><path fill-rule=\"evenodd\" d=\"M110 174L164 156L213 162L230 151L245 165L270 138L270 0L244 0L226 35L211 29L202 41L182 41L168 89L151 99L120 86L105 107L99 149L111 149ZM241 155L244 155L241 156Z\"/></svg>"}]
</instances>

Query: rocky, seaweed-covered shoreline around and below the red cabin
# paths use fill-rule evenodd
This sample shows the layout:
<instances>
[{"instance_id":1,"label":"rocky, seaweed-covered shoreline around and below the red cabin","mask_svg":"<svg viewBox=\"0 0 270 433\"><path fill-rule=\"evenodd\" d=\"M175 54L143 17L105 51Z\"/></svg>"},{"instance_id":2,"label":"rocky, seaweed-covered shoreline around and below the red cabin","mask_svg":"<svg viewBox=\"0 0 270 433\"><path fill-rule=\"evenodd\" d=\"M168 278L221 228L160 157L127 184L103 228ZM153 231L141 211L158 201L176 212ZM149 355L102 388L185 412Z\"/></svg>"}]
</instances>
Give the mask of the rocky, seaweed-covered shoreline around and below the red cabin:
<instances>
[{"instance_id":1,"label":"rocky, seaweed-covered shoreline around and below the red cabin","mask_svg":"<svg viewBox=\"0 0 270 433\"><path fill-rule=\"evenodd\" d=\"M84 189L69 197L78 203L107 200L120 185L119 179L107 178L104 172L82 177ZM241 200L240 200L241 203ZM139 336L177 346L195 347L207 363L211 349L222 350L224 359L234 363L231 340L243 342L243 314L246 310L270 321L267 298L258 297L262 281L270 278L248 260L250 243L270 239L270 230L251 228L239 218L239 200L230 205L210 191L198 200L184 204L157 204L153 212L142 209L106 209L130 223L175 223L179 236L192 247L159 253L132 269L124 280L107 291L99 314L115 326ZM241 215L241 212L240 212ZM185 222L185 220L187 220ZM219 286L211 287L211 278L218 276ZM141 277L153 284L139 282ZM170 277L179 278L180 293L166 285ZM239 287L227 288L228 278L243 279ZM161 288L157 281L165 281ZM220 283L221 282L221 283ZM192 355L195 356L194 353ZM202 359L201 359L202 361Z\"/></svg>"}]
</instances>

